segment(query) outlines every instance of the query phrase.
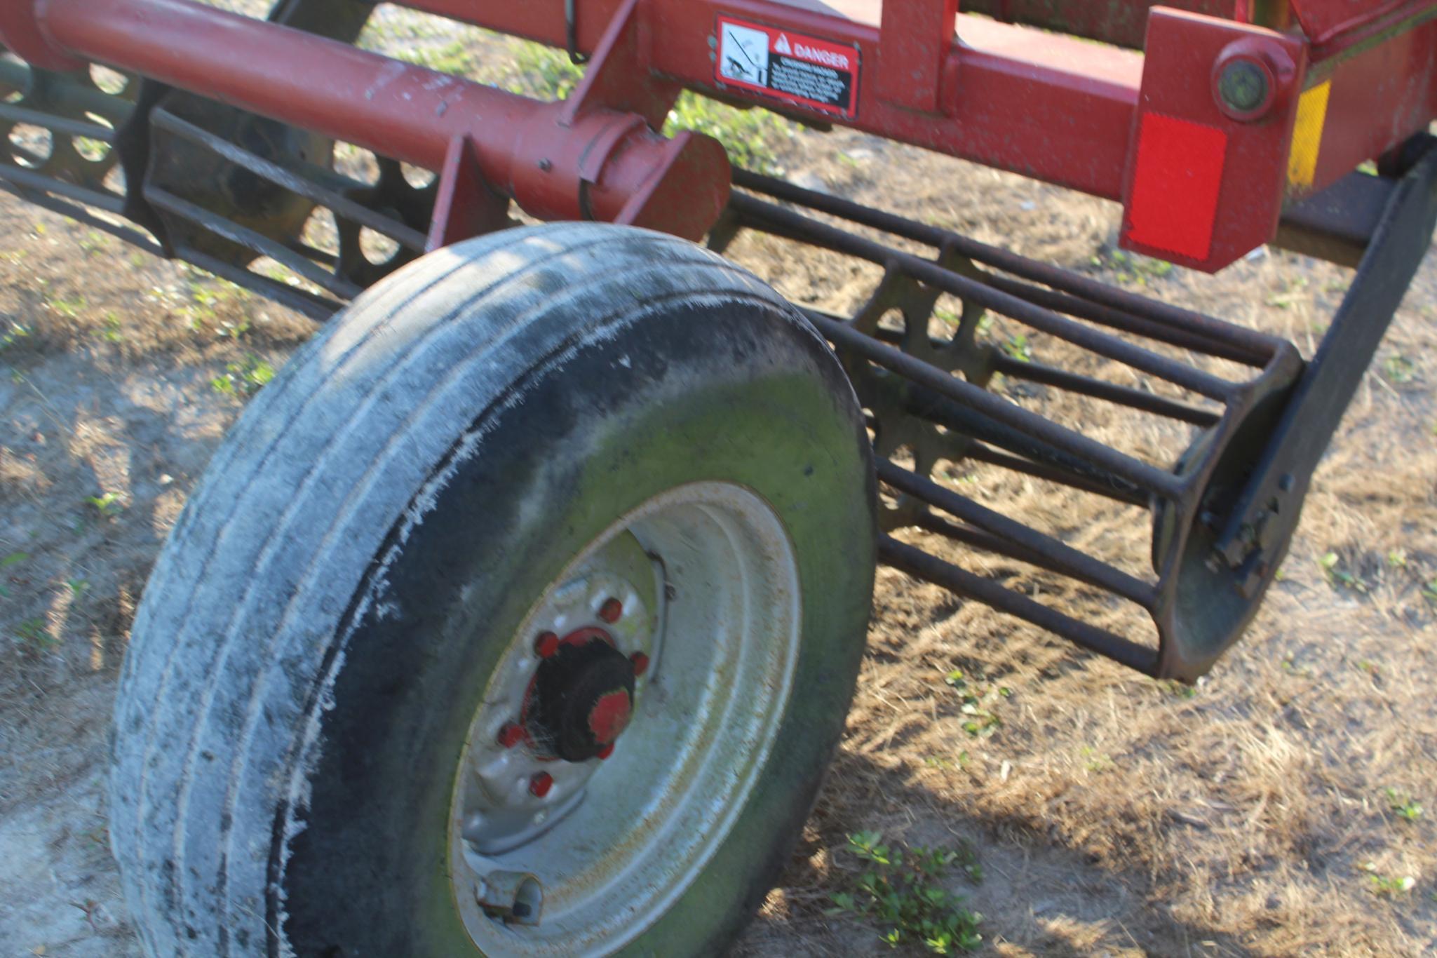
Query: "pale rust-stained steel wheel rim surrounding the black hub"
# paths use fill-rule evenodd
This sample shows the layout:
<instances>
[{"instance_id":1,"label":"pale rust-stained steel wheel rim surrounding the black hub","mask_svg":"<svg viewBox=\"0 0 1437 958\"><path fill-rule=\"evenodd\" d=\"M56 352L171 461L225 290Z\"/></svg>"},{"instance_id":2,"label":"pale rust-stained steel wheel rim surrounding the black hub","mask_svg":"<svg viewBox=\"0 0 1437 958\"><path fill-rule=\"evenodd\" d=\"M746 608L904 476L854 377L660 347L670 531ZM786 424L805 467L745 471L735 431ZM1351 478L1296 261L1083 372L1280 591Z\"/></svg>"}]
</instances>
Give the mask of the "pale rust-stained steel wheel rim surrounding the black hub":
<instances>
[{"instance_id":1,"label":"pale rust-stained steel wheel rim surrounding the black hub","mask_svg":"<svg viewBox=\"0 0 1437 958\"><path fill-rule=\"evenodd\" d=\"M450 885L480 951L606 954L693 883L777 738L798 662L799 595L777 514L730 483L650 498L543 590L491 674L456 774ZM622 618L599 618L614 597L632 616L627 632ZM552 783L536 796L522 789L539 774L535 743L506 744L506 727L523 708L520 684L532 689L542 664L536 641L588 626L612 626L615 648L648 656L632 717L609 757L545 763ZM529 832L486 833L476 823L496 807L542 817Z\"/></svg>"}]
</instances>

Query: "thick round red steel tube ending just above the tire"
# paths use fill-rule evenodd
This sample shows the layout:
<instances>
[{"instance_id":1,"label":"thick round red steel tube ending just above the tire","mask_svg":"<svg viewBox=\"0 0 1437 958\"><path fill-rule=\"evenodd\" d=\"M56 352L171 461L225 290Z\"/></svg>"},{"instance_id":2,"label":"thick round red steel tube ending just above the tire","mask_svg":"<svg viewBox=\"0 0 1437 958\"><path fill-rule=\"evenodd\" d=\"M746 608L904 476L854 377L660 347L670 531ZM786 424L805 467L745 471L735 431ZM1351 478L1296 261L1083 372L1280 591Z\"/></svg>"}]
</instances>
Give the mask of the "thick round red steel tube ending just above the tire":
<instances>
[{"instance_id":1,"label":"thick round red steel tube ending just above the tire","mask_svg":"<svg viewBox=\"0 0 1437 958\"><path fill-rule=\"evenodd\" d=\"M562 124L562 103L190 0L47 0L36 20L60 55L428 169L443 169L453 144L467 139L486 184L540 218L628 221L697 238L727 203L729 162L717 141L670 139L634 113L599 106ZM697 188L673 188L675 177ZM662 197L665 208L648 197Z\"/></svg>"}]
</instances>

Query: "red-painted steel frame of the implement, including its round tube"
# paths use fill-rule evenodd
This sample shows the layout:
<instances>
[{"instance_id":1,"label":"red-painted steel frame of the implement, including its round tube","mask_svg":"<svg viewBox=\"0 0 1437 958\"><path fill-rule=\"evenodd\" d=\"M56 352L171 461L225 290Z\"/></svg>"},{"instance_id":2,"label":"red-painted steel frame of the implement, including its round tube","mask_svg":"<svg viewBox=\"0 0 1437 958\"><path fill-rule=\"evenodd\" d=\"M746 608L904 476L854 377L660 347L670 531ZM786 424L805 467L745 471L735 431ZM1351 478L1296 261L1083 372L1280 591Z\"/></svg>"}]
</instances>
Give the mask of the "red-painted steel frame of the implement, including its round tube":
<instances>
[{"instance_id":1,"label":"red-painted steel frame of the implement, including its round tube","mask_svg":"<svg viewBox=\"0 0 1437 958\"><path fill-rule=\"evenodd\" d=\"M467 169L537 215L696 237L727 165L707 138L654 132L691 88L1121 201L1124 246L1210 271L1272 240L1286 203L1437 118L1437 0L1094 0L1062 4L1062 22L1046 0L973 4L1128 45L1145 20L1145 56L960 14L958 0L576 0L573 23L560 0L404 6L572 37L589 73L569 103L540 105L188 0L11 0L0 40L37 66L131 69L450 181ZM720 17L852 49L856 113L724 83ZM1260 108L1219 95L1234 60L1265 78Z\"/></svg>"}]
</instances>

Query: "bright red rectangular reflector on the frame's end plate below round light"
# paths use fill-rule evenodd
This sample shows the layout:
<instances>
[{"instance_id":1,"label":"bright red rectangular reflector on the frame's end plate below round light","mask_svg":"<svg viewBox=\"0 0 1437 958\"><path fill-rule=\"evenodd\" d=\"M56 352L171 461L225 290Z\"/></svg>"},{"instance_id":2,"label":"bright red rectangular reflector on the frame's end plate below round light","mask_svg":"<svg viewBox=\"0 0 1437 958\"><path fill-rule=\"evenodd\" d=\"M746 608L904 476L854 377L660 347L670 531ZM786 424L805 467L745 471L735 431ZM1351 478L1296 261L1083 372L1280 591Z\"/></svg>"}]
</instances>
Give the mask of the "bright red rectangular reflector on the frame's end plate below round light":
<instances>
[{"instance_id":1,"label":"bright red rectangular reflector on the frame's end plate below round light","mask_svg":"<svg viewBox=\"0 0 1437 958\"><path fill-rule=\"evenodd\" d=\"M1213 247L1227 134L1175 116L1144 113L1128 200L1128 238L1206 260Z\"/></svg>"}]
</instances>

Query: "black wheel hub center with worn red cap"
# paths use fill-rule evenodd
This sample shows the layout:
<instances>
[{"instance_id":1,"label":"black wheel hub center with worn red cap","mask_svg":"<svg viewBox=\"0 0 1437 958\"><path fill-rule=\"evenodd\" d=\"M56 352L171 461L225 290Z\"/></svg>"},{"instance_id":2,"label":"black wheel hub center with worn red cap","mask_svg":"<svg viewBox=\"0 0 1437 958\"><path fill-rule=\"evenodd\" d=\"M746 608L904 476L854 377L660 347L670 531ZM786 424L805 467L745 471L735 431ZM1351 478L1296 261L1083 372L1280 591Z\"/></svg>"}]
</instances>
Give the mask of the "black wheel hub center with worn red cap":
<instances>
[{"instance_id":1,"label":"black wheel hub center with worn red cap","mask_svg":"<svg viewBox=\"0 0 1437 958\"><path fill-rule=\"evenodd\" d=\"M634 664L602 629L562 639L535 674L523 722L540 753L598 758L634 714Z\"/></svg>"}]
</instances>

